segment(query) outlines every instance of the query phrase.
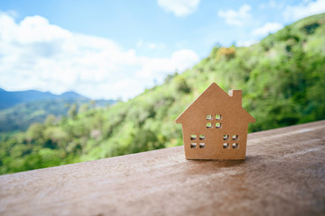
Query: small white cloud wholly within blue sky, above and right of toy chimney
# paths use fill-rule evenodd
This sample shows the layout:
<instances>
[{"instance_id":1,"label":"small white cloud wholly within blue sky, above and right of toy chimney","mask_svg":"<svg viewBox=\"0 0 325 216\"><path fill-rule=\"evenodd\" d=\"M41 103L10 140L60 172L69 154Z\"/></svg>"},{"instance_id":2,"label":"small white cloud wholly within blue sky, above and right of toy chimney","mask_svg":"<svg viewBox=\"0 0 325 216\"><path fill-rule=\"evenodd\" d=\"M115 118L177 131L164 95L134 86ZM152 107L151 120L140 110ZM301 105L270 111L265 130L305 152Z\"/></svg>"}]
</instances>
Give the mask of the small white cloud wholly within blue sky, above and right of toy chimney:
<instances>
[{"instance_id":1,"label":"small white cloud wholly within blue sky, above and right of toy chimney","mask_svg":"<svg viewBox=\"0 0 325 216\"><path fill-rule=\"evenodd\" d=\"M243 4L238 11L234 10L228 10L218 11L218 16L226 19L226 23L230 25L237 25L241 26L243 25L247 19L251 17L251 14L249 13L251 11L252 7L248 4Z\"/></svg>"}]
</instances>

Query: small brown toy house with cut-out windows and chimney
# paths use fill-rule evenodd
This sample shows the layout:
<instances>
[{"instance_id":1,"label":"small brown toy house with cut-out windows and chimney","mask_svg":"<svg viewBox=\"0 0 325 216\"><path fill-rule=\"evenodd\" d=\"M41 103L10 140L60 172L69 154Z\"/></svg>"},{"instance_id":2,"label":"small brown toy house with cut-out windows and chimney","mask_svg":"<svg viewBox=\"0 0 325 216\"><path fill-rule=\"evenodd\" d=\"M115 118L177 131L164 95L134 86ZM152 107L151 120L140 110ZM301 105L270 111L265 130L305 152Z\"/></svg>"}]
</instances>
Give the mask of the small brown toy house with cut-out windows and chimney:
<instances>
[{"instance_id":1,"label":"small brown toy house with cut-out windows and chimney","mask_svg":"<svg viewBox=\"0 0 325 216\"><path fill-rule=\"evenodd\" d=\"M212 83L175 120L187 159L245 159L247 128L255 119L242 107L242 91Z\"/></svg>"}]
</instances>

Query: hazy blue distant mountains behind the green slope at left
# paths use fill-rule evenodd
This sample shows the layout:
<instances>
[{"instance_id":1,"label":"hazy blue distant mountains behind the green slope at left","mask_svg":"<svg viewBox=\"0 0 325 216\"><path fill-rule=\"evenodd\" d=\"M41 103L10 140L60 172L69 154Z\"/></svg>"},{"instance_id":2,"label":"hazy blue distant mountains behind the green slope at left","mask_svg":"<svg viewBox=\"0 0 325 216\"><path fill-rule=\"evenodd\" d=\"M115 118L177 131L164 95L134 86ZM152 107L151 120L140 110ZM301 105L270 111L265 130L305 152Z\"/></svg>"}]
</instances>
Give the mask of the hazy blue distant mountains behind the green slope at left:
<instances>
[{"instance_id":1,"label":"hazy blue distant mountains behind the green slope at left","mask_svg":"<svg viewBox=\"0 0 325 216\"><path fill-rule=\"evenodd\" d=\"M52 94L36 90L8 92L0 88L0 132L26 130L33 122L43 122L50 114L65 116L72 104L108 106L115 100L91 100L75 92ZM91 103L91 104L90 104Z\"/></svg>"}]
</instances>

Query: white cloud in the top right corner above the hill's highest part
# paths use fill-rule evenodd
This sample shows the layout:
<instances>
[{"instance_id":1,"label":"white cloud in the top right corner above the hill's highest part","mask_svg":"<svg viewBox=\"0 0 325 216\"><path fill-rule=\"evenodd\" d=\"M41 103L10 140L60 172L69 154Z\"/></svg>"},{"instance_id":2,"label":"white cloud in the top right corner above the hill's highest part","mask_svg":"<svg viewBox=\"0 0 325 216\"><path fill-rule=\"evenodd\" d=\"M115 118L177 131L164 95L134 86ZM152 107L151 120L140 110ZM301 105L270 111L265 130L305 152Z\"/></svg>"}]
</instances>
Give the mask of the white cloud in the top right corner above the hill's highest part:
<instances>
[{"instance_id":1,"label":"white cloud in the top right corner above the hill's highest part","mask_svg":"<svg viewBox=\"0 0 325 216\"><path fill-rule=\"evenodd\" d=\"M296 21L320 13L325 13L325 0L307 0L299 5L287 6L283 11L283 16L286 21Z\"/></svg>"}]
</instances>

